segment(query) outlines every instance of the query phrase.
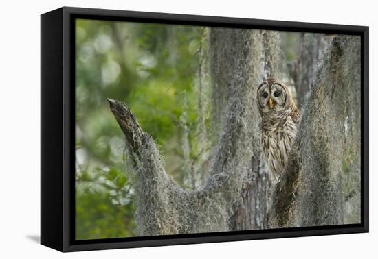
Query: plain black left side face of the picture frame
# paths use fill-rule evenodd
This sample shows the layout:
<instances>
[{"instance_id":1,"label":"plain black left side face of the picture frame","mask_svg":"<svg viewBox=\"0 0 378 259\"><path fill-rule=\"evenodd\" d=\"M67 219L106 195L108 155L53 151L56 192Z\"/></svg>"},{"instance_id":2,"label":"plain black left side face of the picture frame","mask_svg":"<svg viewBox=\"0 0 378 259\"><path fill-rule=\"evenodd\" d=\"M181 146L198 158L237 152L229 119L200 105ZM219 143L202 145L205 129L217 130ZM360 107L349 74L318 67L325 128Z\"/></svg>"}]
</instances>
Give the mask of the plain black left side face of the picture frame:
<instances>
[{"instance_id":1,"label":"plain black left side face of the picture frame","mask_svg":"<svg viewBox=\"0 0 378 259\"><path fill-rule=\"evenodd\" d=\"M62 14L41 14L41 244L62 251Z\"/></svg>"}]
</instances>

